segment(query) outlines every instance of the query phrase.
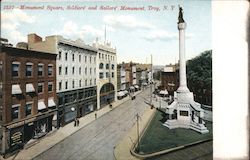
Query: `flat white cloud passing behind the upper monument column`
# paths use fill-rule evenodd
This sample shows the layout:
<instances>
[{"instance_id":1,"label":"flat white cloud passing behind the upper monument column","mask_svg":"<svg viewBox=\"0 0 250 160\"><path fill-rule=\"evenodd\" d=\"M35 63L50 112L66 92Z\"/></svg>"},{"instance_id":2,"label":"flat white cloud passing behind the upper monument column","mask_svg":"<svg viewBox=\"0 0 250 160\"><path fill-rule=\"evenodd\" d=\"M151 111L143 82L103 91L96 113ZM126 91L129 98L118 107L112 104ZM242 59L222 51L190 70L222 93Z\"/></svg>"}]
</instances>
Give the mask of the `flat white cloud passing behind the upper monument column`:
<instances>
[{"instance_id":1,"label":"flat white cloud passing behind the upper monument column","mask_svg":"<svg viewBox=\"0 0 250 160\"><path fill-rule=\"evenodd\" d=\"M186 38L193 37L193 34L186 34ZM148 35L142 37L147 41L170 41L170 40L177 40L179 37L178 33L171 33L166 30L153 30Z\"/></svg>"}]
</instances>

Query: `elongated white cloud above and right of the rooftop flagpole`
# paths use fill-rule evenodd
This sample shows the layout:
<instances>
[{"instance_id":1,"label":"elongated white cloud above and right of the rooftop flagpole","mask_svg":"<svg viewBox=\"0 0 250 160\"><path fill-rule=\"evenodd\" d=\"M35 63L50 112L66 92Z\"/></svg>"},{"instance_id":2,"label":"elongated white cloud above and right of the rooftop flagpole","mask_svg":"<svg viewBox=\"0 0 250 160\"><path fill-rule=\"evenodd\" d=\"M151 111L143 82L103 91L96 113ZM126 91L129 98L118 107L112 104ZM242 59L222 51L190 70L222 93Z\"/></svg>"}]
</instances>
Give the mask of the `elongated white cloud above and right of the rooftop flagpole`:
<instances>
[{"instance_id":1,"label":"elongated white cloud above and right of the rooftop flagpole","mask_svg":"<svg viewBox=\"0 0 250 160\"><path fill-rule=\"evenodd\" d=\"M103 17L103 22L113 28L123 28L123 29L153 29L154 25L139 21L134 16L130 15L108 15Z\"/></svg>"}]
</instances>

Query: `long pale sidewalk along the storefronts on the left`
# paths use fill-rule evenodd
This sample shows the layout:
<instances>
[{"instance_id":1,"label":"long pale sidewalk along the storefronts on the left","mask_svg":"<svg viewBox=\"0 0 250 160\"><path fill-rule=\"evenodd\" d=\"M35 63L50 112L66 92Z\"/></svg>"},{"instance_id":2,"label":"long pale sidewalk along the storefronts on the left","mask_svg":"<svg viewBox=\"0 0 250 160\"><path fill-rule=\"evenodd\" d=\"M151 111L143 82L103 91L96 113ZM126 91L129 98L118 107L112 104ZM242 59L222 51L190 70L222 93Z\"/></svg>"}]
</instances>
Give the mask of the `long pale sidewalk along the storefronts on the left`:
<instances>
[{"instance_id":1,"label":"long pale sidewalk along the storefronts on the left","mask_svg":"<svg viewBox=\"0 0 250 160\"><path fill-rule=\"evenodd\" d=\"M141 91L136 92L135 95L137 95L139 93L141 93ZM8 157L6 160L33 159L37 155L52 148L54 145L56 145L60 141L64 140L68 136L77 132L79 129L83 128L87 124L93 122L95 120L95 113L97 113L97 118L99 118L130 99L131 99L131 97L127 96L122 100L117 100L116 102L112 103L112 108L109 106L105 106L98 111L94 111L94 112L92 112L84 117L81 117L79 119L79 121L80 121L79 126L74 127L74 122L69 123L64 127L61 127L59 130L55 130L54 132L48 134L46 137L38 140L33 146L31 146L29 148L24 148L23 150L20 150L20 152L18 152L17 154L15 154L11 157Z\"/></svg>"}]
</instances>

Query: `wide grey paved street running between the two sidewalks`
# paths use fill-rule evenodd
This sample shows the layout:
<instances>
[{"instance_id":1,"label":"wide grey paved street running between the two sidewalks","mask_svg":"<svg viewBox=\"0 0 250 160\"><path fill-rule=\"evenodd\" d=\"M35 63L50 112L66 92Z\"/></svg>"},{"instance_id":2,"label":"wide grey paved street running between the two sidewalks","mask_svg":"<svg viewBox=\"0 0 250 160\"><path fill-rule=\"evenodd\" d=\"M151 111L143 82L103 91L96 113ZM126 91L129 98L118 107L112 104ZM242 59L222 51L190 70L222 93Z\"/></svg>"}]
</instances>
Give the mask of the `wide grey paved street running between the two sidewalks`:
<instances>
[{"instance_id":1,"label":"wide grey paved street running between the two sidewalks","mask_svg":"<svg viewBox=\"0 0 250 160\"><path fill-rule=\"evenodd\" d=\"M112 160L113 148L149 107L144 103L149 89L127 101L96 121L83 127L35 160Z\"/></svg>"}]
</instances>

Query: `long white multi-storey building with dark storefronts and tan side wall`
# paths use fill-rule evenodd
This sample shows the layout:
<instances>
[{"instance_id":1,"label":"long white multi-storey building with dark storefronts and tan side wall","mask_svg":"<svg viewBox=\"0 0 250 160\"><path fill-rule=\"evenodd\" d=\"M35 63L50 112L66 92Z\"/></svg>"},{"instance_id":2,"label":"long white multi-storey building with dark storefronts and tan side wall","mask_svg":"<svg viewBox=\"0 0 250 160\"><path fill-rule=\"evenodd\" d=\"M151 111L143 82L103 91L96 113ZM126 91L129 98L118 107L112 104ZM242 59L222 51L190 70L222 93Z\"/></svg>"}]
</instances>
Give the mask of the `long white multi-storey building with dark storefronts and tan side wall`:
<instances>
[{"instance_id":1,"label":"long white multi-storey building with dark storefronts and tan side wall","mask_svg":"<svg viewBox=\"0 0 250 160\"><path fill-rule=\"evenodd\" d=\"M62 36L42 41L35 34L28 35L28 47L57 54L58 118L62 126L97 109L97 49Z\"/></svg>"}]
</instances>

